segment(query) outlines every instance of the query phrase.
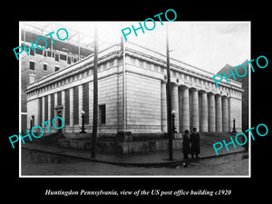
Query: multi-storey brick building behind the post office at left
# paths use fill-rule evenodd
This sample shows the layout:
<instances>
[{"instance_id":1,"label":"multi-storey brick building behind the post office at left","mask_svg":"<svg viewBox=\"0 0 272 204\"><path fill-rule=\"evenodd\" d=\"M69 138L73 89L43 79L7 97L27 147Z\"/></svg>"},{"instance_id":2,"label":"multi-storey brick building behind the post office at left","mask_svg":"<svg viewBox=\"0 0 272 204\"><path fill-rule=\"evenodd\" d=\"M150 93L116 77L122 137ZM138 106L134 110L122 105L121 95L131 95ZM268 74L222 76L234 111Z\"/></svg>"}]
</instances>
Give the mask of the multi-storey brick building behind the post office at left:
<instances>
[{"instance_id":1,"label":"multi-storey brick building behind the post office at left","mask_svg":"<svg viewBox=\"0 0 272 204\"><path fill-rule=\"evenodd\" d=\"M43 25L43 26L42 26ZM80 41L76 33L72 29L69 29L70 40L59 41L56 37L54 38L55 44L52 43L50 36L45 36L60 28L60 24L21 24L21 35L20 42L21 46L25 44L25 47L30 47L31 42L39 37L44 37L47 41L47 47L44 50L38 48L30 49L29 55L26 52L20 54L21 63L21 117L22 117L22 131L24 132L27 127L26 123L29 122L30 118L26 117L26 87L29 83L33 83L36 80L43 78L44 76L55 73L63 68L76 63L80 59L90 55L93 50L92 44L86 45ZM85 37L81 34L82 37ZM92 42L92 41L91 41ZM38 41L40 47L44 46L44 41Z\"/></svg>"}]
</instances>

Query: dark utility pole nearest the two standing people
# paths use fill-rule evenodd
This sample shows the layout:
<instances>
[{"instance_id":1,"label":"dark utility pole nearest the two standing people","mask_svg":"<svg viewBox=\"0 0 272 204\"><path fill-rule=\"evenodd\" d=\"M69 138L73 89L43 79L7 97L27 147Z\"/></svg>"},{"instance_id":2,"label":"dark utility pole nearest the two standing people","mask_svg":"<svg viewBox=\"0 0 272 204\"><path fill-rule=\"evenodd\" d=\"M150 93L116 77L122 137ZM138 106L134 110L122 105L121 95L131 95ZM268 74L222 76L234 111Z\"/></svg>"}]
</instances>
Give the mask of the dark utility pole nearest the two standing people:
<instances>
[{"instance_id":1,"label":"dark utility pole nearest the two standing people","mask_svg":"<svg viewBox=\"0 0 272 204\"><path fill-rule=\"evenodd\" d=\"M173 160L173 131L172 131L172 107L170 94L170 56L169 56L169 42L168 42L168 25L166 24L166 58L167 58L167 83L166 83L166 99L167 99L167 133L168 133L168 149L169 160Z\"/></svg>"}]
</instances>

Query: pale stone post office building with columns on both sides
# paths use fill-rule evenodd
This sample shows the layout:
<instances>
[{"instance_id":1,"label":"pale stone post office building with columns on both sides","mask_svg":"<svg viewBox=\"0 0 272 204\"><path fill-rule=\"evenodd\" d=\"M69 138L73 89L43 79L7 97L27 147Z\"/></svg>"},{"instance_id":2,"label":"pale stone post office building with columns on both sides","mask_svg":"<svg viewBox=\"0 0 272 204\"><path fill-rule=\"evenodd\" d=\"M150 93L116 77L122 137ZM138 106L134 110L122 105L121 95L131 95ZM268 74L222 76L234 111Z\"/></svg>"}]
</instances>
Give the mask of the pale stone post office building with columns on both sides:
<instances>
[{"instance_id":1,"label":"pale stone post office building with columns on both sides","mask_svg":"<svg viewBox=\"0 0 272 204\"><path fill-rule=\"evenodd\" d=\"M78 133L82 112L92 133L93 54L27 86L32 125L63 117L65 134ZM213 73L170 59L171 105L177 132L241 131L241 83L216 87ZM98 133L161 135L167 131L166 56L137 44L114 44L98 54ZM27 128L31 123L28 122ZM46 132L46 126L43 126Z\"/></svg>"}]
</instances>

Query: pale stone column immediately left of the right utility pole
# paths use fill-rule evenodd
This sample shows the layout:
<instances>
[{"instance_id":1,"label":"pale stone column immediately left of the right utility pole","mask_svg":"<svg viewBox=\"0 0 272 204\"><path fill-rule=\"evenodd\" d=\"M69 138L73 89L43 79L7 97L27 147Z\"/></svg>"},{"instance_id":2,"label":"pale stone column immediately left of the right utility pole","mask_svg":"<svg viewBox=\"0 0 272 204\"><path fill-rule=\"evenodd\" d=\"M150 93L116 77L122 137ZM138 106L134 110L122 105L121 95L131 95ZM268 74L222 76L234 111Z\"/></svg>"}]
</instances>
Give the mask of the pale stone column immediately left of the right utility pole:
<instances>
[{"instance_id":1,"label":"pale stone column immediately left of the right utility pole","mask_svg":"<svg viewBox=\"0 0 272 204\"><path fill-rule=\"evenodd\" d=\"M166 101L166 82L161 82L160 91L160 120L161 120L161 131L167 132L167 101Z\"/></svg>"}]
</instances>

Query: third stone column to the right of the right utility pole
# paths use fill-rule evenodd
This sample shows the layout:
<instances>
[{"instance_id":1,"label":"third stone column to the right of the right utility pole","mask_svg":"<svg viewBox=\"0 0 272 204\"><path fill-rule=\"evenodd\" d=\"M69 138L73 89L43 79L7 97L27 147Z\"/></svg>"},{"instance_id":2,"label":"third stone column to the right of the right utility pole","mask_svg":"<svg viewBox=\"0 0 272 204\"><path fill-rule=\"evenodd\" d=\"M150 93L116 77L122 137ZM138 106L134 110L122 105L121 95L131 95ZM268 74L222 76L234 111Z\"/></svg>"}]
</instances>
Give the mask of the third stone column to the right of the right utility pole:
<instances>
[{"instance_id":1,"label":"third stone column to the right of the right utility pole","mask_svg":"<svg viewBox=\"0 0 272 204\"><path fill-rule=\"evenodd\" d=\"M199 131L199 91L192 89L191 126Z\"/></svg>"}]
</instances>

